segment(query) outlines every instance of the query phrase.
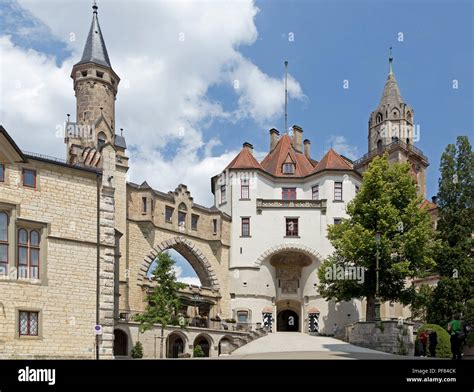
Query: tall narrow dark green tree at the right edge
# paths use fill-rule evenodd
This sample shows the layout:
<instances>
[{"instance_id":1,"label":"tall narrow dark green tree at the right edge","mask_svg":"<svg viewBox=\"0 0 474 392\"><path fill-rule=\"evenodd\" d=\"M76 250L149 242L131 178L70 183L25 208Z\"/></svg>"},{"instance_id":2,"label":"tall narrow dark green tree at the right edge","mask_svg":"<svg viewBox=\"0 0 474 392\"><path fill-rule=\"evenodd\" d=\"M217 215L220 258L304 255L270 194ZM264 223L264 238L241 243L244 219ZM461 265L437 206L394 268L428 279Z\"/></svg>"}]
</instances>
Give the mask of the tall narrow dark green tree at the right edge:
<instances>
[{"instance_id":1,"label":"tall narrow dark green tree at the right edge","mask_svg":"<svg viewBox=\"0 0 474 392\"><path fill-rule=\"evenodd\" d=\"M445 326L474 297L474 153L466 136L446 147L440 172L437 234L441 248L436 256L440 281L428 308L428 321Z\"/></svg>"}]
</instances>

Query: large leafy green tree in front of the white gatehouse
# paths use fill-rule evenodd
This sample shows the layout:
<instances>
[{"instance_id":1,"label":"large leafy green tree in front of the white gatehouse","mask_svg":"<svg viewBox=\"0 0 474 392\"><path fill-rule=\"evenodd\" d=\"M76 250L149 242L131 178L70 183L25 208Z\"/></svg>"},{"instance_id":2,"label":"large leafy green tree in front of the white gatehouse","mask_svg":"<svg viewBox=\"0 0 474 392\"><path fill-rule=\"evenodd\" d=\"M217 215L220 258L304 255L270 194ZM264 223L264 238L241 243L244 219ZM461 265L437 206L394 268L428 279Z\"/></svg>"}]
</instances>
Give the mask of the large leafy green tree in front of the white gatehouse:
<instances>
[{"instance_id":1,"label":"large leafy green tree in front of the white gatehouse","mask_svg":"<svg viewBox=\"0 0 474 392\"><path fill-rule=\"evenodd\" d=\"M326 299L366 298L366 320L375 319L376 254L379 254L379 295L382 301L409 304L415 288L406 279L434 266L430 216L420 208L408 164L389 164L376 157L363 176L362 187L347 206L348 219L329 227L335 248L318 271L320 293ZM376 232L381 233L377 247ZM337 267L365 269L363 282L334 279Z\"/></svg>"}]
</instances>

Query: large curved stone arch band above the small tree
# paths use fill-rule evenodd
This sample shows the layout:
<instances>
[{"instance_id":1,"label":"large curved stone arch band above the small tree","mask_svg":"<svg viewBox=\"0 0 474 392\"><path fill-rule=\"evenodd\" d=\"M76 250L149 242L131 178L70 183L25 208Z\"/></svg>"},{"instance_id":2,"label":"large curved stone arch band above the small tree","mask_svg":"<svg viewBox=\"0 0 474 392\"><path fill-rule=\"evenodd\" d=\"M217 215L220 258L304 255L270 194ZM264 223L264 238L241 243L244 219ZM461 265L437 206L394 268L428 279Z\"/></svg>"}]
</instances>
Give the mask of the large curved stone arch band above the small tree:
<instances>
[{"instance_id":1,"label":"large curved stone arch band above the small tree","mask_svg":"<svg viewBox=\"0 0 474 392\"><path fill-rule=\"evenodd\" d=\"M211 263L196 244L183 236L177 236L163 241L150 251L140 266L138 273L139 284L143 283L144 279L146 278L146 274L150 269L150 265L156 259L156 256L167 249L175 249L184 258L186 258L189 264L191 264L193 267L194 271L196 271L202 286L219 290L219 281L217 280L216 273L214 272Z\"/></svg>"}]
</instances>

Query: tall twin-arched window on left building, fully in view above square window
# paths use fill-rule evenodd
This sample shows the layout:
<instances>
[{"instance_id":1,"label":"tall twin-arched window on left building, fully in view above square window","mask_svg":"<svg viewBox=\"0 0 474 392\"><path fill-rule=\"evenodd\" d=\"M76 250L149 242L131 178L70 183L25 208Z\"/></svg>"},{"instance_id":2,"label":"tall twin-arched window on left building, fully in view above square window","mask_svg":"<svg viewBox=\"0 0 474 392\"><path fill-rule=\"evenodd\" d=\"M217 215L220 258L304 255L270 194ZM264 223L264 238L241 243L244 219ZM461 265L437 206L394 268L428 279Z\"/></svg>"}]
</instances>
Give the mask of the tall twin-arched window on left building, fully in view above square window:
<instances>
[{"instance_id":1,"label":"tall twin-arched window on left building, fully in view above square window","mask_svg":"<svg viewBox=\"0 0 474 392\"><path fill-rule=\"evenodd\" d=\"M18 230L18 277L39 279L40 234Z\"/></svg>"}]
</instances>

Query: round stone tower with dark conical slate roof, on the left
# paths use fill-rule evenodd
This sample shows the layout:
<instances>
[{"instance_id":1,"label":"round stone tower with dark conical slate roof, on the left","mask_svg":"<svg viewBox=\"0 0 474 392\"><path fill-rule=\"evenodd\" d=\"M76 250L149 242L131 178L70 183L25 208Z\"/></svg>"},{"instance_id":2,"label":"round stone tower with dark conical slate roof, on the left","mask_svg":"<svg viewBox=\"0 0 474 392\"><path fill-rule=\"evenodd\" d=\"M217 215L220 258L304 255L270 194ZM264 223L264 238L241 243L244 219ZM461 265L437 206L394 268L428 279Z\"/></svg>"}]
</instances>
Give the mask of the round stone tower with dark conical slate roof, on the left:
<instances>
[{"instance_id":1,"label":"round stone tower with dark conical slate roof, on the left","mask_svg":"<svg viewBox=\"0 0 474 392\"><path fill-rule=\"evenodd\" d=\"M74 147L99 150L115 142L115 99L120 78L112 69L99 25L97 4L92 7L92 23L81 60L71 78L76 95L76 123L68 123L68 161L77 163Z\"/></svg>"}]
</instances>

